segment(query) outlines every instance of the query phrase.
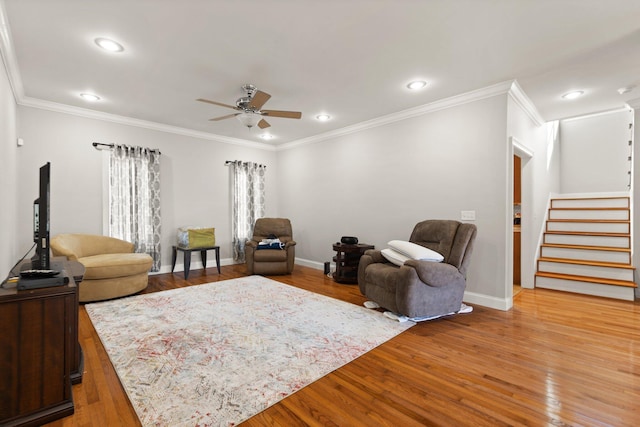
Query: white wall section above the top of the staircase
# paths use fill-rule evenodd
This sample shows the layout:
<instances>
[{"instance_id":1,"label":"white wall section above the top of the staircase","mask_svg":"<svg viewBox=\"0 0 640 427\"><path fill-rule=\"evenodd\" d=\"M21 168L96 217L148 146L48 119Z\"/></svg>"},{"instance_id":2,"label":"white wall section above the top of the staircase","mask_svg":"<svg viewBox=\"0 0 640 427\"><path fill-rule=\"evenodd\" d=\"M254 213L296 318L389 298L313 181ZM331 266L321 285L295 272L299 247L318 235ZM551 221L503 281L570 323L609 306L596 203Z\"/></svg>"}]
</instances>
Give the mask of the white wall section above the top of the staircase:
<instances>
[{"instance_id":1,"label":"white wall section above the top of the staircase","mask_svg":"<svg viewBox=\"0 0 640 427\"><path fill-rule=\"evenodd\" d=\"M628 191L630 110L560 122L561 191Z\"/></svg>"}]
</instances>

